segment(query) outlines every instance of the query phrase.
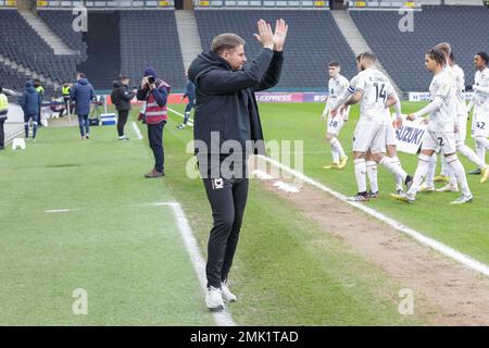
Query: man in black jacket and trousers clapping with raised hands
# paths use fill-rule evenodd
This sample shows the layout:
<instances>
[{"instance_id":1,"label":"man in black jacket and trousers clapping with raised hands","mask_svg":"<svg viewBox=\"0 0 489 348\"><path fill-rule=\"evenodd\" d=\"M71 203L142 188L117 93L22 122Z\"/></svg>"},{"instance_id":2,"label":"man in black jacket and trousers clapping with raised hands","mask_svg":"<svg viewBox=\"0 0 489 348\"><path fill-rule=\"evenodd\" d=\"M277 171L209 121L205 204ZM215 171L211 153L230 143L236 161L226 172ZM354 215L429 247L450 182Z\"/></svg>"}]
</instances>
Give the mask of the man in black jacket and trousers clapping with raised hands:
<instances>
[{"instance_id":1,"label":"man in black jacket and trousers clapping with raised hands","mask_svg":"<svg viewBox=\"0 0 489 348\"><path fill-rule=\"evenodd\" d=\"M277 21L275 34L263 20L258 26L256 39L263 49L255 61L244 64L244 41L237 35L223 34L189 69L189 78L196 84L196 154L214 219L205 269L205 302L211 310L236 300L226 281L248 196L246 162L250 152L264 154L254 91L277 85L284 61L285 22ZM226 150L229 140L234 141L233 150ZM258 142L250 147L251 141ZM228 165L231 157L239 160Z\"/></svg>"}]
</instances>

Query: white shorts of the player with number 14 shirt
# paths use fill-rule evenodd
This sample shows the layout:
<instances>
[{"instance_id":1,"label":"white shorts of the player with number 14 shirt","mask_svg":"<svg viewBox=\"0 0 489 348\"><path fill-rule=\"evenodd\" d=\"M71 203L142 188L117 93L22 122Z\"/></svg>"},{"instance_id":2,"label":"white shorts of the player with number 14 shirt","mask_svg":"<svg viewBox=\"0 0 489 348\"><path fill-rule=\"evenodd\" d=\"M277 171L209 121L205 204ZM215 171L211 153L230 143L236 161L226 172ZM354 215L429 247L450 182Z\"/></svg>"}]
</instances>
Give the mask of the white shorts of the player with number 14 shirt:
<instances>
[{"instance_id":1,"label":"white shorts of the player with number 14 shirt","mask_svg":"<svg viewBox=\"0 0 489 348\"><path fill-rule=\"evenodd\" d=\"M353 151L372 153L386 152L386 125L358 123L353 135Z\"/></svg>"}]
</instances>

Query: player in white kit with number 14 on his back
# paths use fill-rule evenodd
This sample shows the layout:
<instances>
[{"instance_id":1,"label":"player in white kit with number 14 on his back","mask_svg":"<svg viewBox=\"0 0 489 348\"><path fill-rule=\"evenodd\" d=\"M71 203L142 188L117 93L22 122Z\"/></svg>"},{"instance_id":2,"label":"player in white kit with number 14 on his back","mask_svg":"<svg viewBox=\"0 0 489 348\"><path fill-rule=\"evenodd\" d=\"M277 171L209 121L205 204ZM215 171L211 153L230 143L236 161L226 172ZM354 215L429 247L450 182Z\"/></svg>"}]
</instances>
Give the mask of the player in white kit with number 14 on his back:
<instances>
[{"instance_id":1,"label":"player in white kit with number 14 on his back","mask_svg":"<svg viewBox=\"0 0 489 348\"><path fill-rule=\"evenodd\" d=\"M380 163L392 174L399 175L410 186L412 178L404 170L394 163L386 152L386 102L394 94L389 79L375 67L377 58L375 53L362 53L356 61L359 71L361 71L352 80L354 80L354 92L340 107L342 100L331 110L331 115L349 105L361 103L360 119L356 124L353 138L353 157L355 165L355 179L358 194L349 197L352 201L366 201L368 194L366 190L366 163L365 153L369 150L372 159ZM349 91L352 92L349 87ZM350 89L351 88L351 89Z\"/></svg>"}]
</instances>

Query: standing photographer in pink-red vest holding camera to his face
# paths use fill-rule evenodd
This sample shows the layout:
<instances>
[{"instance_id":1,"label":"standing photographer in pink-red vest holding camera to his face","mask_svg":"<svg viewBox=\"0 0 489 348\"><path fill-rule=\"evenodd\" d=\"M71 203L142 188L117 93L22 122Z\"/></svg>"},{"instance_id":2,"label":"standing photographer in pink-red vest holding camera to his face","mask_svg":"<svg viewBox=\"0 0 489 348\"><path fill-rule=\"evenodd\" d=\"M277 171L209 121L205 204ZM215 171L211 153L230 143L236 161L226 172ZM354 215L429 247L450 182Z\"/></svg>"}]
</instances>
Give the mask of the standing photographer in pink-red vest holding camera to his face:
<instances>
[{"instance_id":1,"label":"standing photographer in pink-red vest holding camera to his face","mask_svg":"<svg viewBox=\"0 0 489 348\"><path fill-rule=\"evenodd\" d=\"M148 138L150 148L153 150L154 167L145 174L145 177L164 176L164 150L163 127L166 124L167 111L166 100L170 95L170 85L158 78L152 67L147 67L141 80L141 86L136 95L138 100L143 100L138 121L148 124Z\"/></svg>"}]
</instances>

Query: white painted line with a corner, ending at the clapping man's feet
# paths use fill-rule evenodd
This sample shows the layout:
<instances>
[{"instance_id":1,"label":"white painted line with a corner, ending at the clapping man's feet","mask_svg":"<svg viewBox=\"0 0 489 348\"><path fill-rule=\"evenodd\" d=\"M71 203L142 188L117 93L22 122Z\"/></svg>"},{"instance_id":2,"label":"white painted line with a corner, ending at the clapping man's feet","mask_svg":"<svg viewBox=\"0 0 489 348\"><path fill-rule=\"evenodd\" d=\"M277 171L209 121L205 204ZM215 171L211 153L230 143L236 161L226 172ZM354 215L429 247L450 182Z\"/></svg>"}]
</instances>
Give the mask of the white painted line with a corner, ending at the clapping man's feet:
<instances>
[{"instance_id":1,"label":"white painted line with a corner, ending at the clapping man's feet","mask_svg":"<svg viewBox=\"0 0 489 348\"><path fill-rule=\"evenodd\" d=\"M190 228L187 216L185 215L181 206L178 202L161 202L154 203L154 206L167 206L172 208L173 213L177 220L180 235L184 239L185 248L190 256L193 270L196 271L197 277L199 278L200 286L205 294L208 290L208 279L205 278L205 261L202 258L199 246L197 244L197 239L192 234L192 229ZM214 316L214 321L218 326L236 326L236 322L233 320L227 310L212 312L212 315Z\"/></svg>"}]
</instances>

